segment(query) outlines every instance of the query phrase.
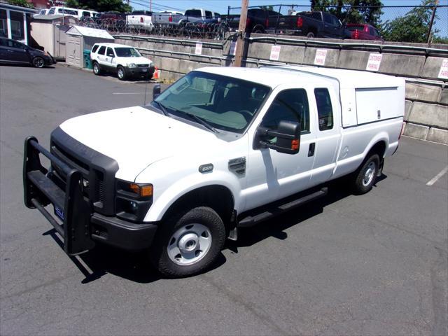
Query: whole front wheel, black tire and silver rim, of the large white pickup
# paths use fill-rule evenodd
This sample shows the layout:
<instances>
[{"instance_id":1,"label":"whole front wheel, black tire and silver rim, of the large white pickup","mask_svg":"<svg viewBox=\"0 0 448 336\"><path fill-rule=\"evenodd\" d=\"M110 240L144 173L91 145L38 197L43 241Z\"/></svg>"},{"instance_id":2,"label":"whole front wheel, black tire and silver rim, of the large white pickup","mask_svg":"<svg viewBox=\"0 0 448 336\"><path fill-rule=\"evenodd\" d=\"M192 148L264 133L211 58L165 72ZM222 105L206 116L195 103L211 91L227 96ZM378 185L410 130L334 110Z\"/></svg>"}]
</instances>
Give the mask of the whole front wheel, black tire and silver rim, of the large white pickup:
<instances>
[{"instance_id":1,"label":"whole front wheel, black tire and silver rim, of the large white pickup","mask_svg":"<svg viewBox=\"0 0 448 336\"><path fill-rule=\"evenodd\" d=\"M192 276L208 269L225 243L225 226L209 207L181 212L160 226L151 247L153 265L165 276Z\"/></svg>"}]
</instances>

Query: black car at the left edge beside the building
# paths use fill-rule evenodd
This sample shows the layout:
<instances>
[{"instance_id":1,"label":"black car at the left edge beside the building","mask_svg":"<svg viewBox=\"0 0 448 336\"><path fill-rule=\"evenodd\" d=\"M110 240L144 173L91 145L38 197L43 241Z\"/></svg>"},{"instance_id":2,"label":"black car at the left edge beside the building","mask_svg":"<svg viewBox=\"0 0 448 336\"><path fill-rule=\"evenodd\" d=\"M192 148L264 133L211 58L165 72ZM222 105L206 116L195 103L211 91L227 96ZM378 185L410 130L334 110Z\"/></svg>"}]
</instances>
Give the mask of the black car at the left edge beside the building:
<instances>
[{"instance_id":1,"label":"black car at the left edge beside the building","mask_svg":"<svg viewBox=\"0 0 448 336\"><path fill-rule=\"evenodd\" d=\"M43 68L43 66L50 66L56 62L48 52L0 37L0 63L31 64L36 68Z\"/></svg>"}]
</instances>

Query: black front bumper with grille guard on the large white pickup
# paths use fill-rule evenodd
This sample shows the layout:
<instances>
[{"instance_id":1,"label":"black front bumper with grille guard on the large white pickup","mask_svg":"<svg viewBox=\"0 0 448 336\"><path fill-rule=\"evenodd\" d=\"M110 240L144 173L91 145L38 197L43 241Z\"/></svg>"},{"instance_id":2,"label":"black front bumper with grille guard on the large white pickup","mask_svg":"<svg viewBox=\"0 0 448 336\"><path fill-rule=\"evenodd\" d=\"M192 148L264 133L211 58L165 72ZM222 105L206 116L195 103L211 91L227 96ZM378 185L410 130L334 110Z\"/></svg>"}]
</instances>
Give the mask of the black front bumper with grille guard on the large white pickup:
<instances>
[{"instance_id":1,"label":"black front bumper with grille guard on the large white pickup","mask_svg":"<svg viewBox=\"0 0 448 336\"><path fill-rule=\"evenodd\" d=\"M56 179L40 162L45 155L52 165L66 176L65 183ZM25 205L38 209L64 240L64 251L77 255L90 250L97 241L139 250L153 242L158 223L130 223L116 216L94 211L94 205L83 190L84 177L79 169L65 162L38 144L34 137L25 140L23 183ZM55 207L55 215L46 206ZM62 221L62 223L61 223Z\"/></svg>"}]
</instances>

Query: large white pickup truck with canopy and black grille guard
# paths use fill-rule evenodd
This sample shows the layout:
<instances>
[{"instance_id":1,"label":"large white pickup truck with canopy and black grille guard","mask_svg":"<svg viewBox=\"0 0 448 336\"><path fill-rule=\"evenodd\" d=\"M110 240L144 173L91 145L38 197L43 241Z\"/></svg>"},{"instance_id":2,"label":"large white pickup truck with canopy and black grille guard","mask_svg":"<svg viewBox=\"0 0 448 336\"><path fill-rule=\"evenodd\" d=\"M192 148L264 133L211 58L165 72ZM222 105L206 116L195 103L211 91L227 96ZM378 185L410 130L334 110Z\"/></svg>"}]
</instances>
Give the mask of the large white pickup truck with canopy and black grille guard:
<instances>
[{"instance_id":1,"label":"large white pickup truck with canopy and black grille guard","mask_svg":"<svg viewBox=\"0 0 448 336\"><path fill-rule=\"evenodd\" d=\"M210 67L161 94L156 86L153 98L66 120L50 151L28 137L25 204L52 223L70 255L97 242L147 249L176 277L203 272L239 227L322 197L330 180L348 176L355 193L367 193L398 148L405 81L303 66Z\"/></svg>"}]
</instances>

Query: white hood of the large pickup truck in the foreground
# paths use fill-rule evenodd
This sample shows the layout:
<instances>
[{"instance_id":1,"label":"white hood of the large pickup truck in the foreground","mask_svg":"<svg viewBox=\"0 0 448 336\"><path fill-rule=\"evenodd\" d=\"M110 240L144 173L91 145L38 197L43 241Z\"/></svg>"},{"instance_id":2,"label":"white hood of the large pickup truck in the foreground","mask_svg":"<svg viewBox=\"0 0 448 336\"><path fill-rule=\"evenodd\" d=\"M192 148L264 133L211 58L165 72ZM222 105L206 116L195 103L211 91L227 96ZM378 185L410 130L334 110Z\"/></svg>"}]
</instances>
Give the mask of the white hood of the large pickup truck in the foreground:
<instances>
[{"instance_id":1,"label":"white hood of the large pickup truck in the foreground","mask_svg":"<svg viewBox=\"0 0 448 336\"><path fill-rule=\"evenodd\" d=\"M118 162L116 177L134 181L154 162L176 154L198 155L226 141L208 130L141 106L91 113L66 120L60 128L80 143ZM210 153L210 152L208 152Z\"/></svg>"}]
</instances>

